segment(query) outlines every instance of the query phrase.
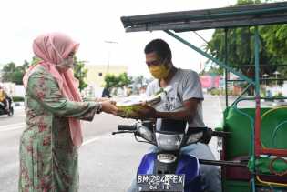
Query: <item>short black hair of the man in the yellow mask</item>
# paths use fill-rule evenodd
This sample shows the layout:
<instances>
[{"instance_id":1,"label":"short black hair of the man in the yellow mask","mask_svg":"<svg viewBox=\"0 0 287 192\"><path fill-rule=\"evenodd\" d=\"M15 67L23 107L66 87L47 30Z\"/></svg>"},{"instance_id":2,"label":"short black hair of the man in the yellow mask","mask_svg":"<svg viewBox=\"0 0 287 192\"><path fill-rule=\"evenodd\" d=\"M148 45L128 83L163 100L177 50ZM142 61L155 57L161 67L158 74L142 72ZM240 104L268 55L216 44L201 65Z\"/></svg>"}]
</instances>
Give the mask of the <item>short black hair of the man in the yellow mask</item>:
<instances>
[{"instance_id":1,"label":"short black hair of the man in the yellow mask","mask_svg":"<svg viewBox=\"0 0 287 192\"><path fill-rule=\"evenodd\" d=\"M169 44L162 39L154 39L146 45L145 54L150 54L152 52L155 52L161 59L168 58L171 60Z\"/></svg>"}]
</instances>

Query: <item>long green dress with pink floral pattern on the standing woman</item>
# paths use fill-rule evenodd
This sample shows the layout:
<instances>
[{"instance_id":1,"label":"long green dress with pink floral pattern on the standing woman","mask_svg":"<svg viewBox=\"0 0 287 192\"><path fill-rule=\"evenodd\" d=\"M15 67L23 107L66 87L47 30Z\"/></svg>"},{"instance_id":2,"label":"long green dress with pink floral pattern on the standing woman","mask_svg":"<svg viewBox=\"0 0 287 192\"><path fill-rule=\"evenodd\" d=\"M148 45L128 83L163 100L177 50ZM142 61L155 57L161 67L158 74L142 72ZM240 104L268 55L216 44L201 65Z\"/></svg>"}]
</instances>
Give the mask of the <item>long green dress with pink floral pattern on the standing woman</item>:
<instances>
[{"instance_id":1,"label":"long green dress with pink floral pattern on the standing woman","mask_svg":"<svg viewBox=\"0 0 287 192\"><path fill-rule=\"evenodd\" d=\"M77 147L68 118L91 121L99 105L62 96L43 66L29 77L25 96L26 129L20 139L20 192L78 190Z\"/></svg>"}]
</instances>

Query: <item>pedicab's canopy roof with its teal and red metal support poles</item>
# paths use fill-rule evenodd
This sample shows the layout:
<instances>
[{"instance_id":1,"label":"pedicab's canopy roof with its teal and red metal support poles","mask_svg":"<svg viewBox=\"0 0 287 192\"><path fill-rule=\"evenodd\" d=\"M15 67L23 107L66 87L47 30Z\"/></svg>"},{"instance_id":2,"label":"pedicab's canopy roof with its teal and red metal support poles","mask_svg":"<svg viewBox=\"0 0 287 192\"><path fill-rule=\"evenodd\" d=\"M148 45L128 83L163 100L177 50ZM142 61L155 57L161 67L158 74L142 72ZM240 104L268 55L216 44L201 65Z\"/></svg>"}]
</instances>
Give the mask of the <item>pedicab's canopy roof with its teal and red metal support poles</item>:
<instances>
[{"instance_id":1,"label":"pedicab's canopy roof with its teal and red metal support poles","mask_svg":"<svg viewBox=\"0 0 287 192\"><path fill-rule=\"evenodd\" d=\"M179 40L184 45L188 45L191 49L200 53L200 55L209 58L214 63L225 69L225 73L231 72L245 80L249 85L255 87L255 121L253 129L251 159L260 157L262 154L287 157L287 150L263 148L261 146L261 94L260 94L260 37L258 32L259 25L275 25L287 24L287 2L259 4L259 5L241 5L216 9L204 9L184 12L170 12L151 15L134 15L122 16L121 21L126 32L139 31L156 31L161 30ZM211 28L225 29L225 47L227 47L227 32L229 28L241 26L254 26L254 65L255 76L253 79L244 76L241 72L236 71L231 65L227 64L228 50L225 50L224 62L217 60L199 47L192 45L185 39L176 35L177 32L195 31ZM174 32L171 32L174 31ZM227 79L225 79L227 84ZM226 86L227 88L227 86ZM246 92L243 91L241 96ZM226 89L227 93L227 89ZM241 100L241 96L234 102L237 104ZM228 101L226 101L228 103ZM233 104L234 104L233 103ZM228 105L228 104L227 104ZM255 160L252 161L252 189L255 191Z\"/></svg>"}]
</instances>

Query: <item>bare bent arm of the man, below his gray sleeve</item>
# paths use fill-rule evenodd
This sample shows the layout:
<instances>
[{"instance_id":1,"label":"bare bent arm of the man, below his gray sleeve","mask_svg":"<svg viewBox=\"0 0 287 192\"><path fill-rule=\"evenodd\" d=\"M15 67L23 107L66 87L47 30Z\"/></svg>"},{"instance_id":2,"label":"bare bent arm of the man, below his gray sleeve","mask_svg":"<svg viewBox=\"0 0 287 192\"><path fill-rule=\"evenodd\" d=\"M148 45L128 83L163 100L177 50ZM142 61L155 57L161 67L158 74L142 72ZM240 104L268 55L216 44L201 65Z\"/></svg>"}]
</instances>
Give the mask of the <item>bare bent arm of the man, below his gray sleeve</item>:
<instances>
[{"instance_id":1,"label":"bare bent arm of the man, below his gray sleeve","mask_svg":"<svg viewBox=\"0 0 287 192\"><path fill-rule=\"evenodd\" d=\"M190 98L183 102L181 110L176 112L159 112L155 111L155 118L170 118L176 120L190 120L194 117L198 104L200 103L199 98Z\"/></svg>"}]
</instances>

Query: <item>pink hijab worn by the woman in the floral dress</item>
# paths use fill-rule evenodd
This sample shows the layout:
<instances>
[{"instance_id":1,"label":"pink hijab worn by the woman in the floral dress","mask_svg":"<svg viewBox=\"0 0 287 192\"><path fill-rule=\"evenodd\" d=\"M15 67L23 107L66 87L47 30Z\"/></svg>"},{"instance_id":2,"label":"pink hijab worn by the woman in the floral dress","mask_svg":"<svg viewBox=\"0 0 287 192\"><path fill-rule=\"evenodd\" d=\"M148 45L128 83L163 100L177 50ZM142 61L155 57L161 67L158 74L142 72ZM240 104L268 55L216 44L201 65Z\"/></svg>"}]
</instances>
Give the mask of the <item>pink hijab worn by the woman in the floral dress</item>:
<instances>
[{"instance_id":1,"label":"pink hijab worn by the woman in the floral dress","mask_svg":"<svg viewBox=\"0 0 287 192\"><path fill-rule=\"evenodd\" d=\"M55 77L63 96L66 96L67 100L70 101L82 101L77 88L78 81L74 77L72 69L59 72L56 65L61 63L63 58L66 58L72 51L76 52L78 45L69 36L60 33L39 35L33 43L34 54L42 60L36 66L44 66L46 71ZM25 87L34 69L35 66L30 66L26 71L23 77ZM79 147L83 142L80 121L75 118L68 118L68 123L73 144Z\"/></svg>"}]
</instances>

